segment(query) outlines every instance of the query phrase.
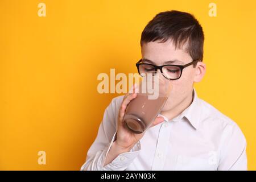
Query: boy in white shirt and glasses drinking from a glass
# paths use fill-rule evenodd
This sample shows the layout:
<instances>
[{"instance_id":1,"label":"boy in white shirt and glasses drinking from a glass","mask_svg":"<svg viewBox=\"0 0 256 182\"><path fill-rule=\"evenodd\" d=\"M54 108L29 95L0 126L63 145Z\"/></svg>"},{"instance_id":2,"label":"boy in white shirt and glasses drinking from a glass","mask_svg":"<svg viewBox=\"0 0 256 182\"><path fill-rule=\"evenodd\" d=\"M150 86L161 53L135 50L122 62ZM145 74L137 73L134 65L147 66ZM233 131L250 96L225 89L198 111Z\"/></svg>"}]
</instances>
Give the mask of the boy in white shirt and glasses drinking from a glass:
<instances>
[{"instance_id":1,"label":"boy in white shirt and glasses drinking from a glass","mask_svg":"<svg viewBox=\"0 0 256 182\"><path fill-rule=\"evenodd\" d=\"M137 94L115 97L106 108L82 170L246 170L246 140L237 124L197 97L205 75L204 33L189 13L159 13L141 36L143 64L186 65L169 75L172 90L145 133L123 127L127 104ZM191 64L189 64L191 63ZM178 68L178 67L177 67Z\"/></svg>"}]
</instances>

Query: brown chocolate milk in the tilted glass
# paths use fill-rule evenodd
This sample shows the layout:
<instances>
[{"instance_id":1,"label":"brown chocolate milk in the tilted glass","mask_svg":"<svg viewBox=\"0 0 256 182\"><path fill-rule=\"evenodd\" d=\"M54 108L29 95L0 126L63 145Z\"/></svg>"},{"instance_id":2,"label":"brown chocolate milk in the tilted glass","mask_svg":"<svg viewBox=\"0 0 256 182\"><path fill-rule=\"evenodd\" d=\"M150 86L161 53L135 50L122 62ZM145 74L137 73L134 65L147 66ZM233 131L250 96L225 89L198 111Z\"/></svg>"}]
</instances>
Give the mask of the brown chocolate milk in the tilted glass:
<instances>
[{"instance_id":1,"label":"brown chocolate milk in the tilted glass","mask_svg":"<svg viewBox=\"0 0 256 182\"><path fill-rule=\"evenodd\" d=\"M159 96L155 100L149 100L147 94L137 94L137 97L127 105L124 125L133 133L143 133L160 113L168 96Z\"/></svg>"}]
</instances>

